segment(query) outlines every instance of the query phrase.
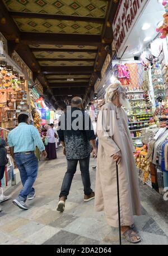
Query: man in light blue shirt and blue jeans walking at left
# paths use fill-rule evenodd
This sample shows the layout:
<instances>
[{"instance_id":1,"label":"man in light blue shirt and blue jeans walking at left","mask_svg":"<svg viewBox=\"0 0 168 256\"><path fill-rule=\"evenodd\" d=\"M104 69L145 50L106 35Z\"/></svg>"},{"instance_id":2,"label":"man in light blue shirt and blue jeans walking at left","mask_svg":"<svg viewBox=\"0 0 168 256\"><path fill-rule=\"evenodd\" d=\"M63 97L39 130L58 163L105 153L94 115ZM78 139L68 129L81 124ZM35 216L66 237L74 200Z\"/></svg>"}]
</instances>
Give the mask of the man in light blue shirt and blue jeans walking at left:
<instances>
[{"instance_id":1,"label":"man in light blue shirt and blue jeans walking at left","mask_svg":"<svg viewBox=\"0 0 168 256\"><path fill-rule=\"evenodd\" d=\"M38 129L33 125L28 125L28 119L28 115L20 114L18 116L18 127L8 134L10 152L20 170L23 185L20 194L13 200L13 204L23 210L29 209L25 203L26 199L31 200L35 197L35 189L32 186L38 175L38 159L34 154L36 146L38 146L44 158L47 155Z\"/></svg>"}]
</instances>

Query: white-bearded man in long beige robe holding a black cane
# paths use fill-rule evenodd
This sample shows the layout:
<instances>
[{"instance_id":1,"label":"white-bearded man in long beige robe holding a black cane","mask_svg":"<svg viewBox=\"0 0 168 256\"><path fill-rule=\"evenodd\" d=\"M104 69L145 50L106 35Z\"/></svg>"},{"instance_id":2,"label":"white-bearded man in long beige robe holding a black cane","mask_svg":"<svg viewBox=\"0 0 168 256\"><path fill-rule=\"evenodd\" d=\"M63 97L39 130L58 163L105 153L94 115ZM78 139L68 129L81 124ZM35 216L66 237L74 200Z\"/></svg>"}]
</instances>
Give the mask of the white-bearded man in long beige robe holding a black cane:
<instances>
[{"instance_id":1,"label":"white-bearded man in long beige robe holding a black cane","mask_svg":"<svg viewBox=\"0 0 168 256\"><path fill-rule=\"evenodd\" d=\"M138 172L133 157L135 149L128 129L128 118L121 107L129 105L125 96L121 83L116 80L106 89L105 101L108 103L101 107L98 116L99 150L95 209L97 212L105 211L110 226L119 226L116 187L116 163L118 163L122 234L129 242L139 242L141 237L131 228L134 223L133 215L141 215L141 205Z\"/></svg>"}]
</instances>

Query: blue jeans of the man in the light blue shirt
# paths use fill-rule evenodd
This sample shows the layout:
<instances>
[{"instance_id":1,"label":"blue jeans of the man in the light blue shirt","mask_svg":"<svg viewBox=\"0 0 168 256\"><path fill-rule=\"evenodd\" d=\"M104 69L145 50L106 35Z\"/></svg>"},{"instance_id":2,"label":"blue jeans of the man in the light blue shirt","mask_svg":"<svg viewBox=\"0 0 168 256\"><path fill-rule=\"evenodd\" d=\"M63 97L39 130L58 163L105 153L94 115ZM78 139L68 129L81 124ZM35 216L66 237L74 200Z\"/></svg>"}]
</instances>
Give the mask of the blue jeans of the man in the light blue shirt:
<instances>
[{"instance_id":1,"label":"blue jeans of the man in the light blue shirt","mask_svg":"<svg viewBox=\"0 0 168 256\"><path fill-rule=\"evenodd\" d=\"M35 193L35 189L32 186L38 176L38 159L34 153L29 155L25 153L16 153L15 161L20 171L20 177L23 185L19 196L26 201L29 194Z\"/></svg>"}]
</instances>

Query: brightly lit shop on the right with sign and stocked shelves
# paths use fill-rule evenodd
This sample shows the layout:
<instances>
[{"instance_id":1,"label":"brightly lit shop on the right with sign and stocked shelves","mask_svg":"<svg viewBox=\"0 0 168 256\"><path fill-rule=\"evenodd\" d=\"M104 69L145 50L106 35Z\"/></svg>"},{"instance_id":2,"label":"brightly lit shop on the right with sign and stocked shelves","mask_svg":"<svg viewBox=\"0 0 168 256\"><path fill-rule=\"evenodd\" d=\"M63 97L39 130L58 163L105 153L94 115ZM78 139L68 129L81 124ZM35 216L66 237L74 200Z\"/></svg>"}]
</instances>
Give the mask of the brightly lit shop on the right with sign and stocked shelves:
<instances>
[{"instance_id":1,"label":"brightly lit shop on the right with sign and stocked shelves","mask_svg":"<svg viewBox=\"0 0 168 256\"><path fill-rule=\"evenodd\" d=\"M157 143L155 146L157 134L162 132L164 136L159 137L162 150L168 137L168 41L159 28L163 19L165 10L161 1L120 1L113 23L116 57L110 61L101 81L95 84L97 100L104 98L105 89L116 79L125 87L132 106L125 111L136 146L134 157L139 177L160 193L168 187L166 150L164 154ZM94 109L92 105L90 108Z\"/></svg>"}]
</instances>

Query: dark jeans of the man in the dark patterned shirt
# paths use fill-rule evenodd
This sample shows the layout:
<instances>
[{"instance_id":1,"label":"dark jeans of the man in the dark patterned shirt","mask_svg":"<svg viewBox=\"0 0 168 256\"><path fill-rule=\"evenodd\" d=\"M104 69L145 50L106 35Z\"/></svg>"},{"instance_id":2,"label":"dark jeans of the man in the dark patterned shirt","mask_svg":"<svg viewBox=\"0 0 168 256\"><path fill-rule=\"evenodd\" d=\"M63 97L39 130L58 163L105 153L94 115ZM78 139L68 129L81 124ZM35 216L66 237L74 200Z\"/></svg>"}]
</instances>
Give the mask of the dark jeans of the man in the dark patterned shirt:
<instances>
[{"instance_id":1,"label":"dark jeans of the man in the dark patterned shirt","mask_svg":"<svg viewBox=\"0 0 168 256\"><path fill-rule=\"evenodd\" d=\"M84 194L90 195L92 192L91 183L90 183L90 173L89 173L89 161L90 155L85 159L67 159L67 172L64 176L61 191L59 197L65 197L69 195L69 190L71 188L72 179L74 173L76 173L77 163L80 162L81 176L84 187Z\"/></svg>"}]
</instances>

